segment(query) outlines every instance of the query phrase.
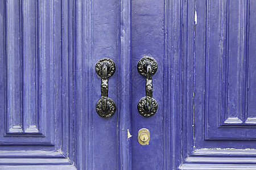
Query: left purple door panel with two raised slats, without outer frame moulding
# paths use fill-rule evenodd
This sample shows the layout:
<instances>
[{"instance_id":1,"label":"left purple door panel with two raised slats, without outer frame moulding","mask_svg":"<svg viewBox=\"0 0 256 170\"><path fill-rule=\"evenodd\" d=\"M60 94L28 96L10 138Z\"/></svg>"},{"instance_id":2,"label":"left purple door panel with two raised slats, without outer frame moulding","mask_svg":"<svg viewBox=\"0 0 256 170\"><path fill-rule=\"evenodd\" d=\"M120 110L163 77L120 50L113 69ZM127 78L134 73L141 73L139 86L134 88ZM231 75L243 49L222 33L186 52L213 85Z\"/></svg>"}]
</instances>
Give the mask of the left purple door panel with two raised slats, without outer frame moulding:
<instances>
[{"instance_id":1,"label":"left purple door panel with two raised slats, without outer frame moulding","mask_svg":"<svg viewBox=\"0 0 256 170\"><path fill-rule=\"evenodd\" d=\"M52 19L42 5L6 1L0 145L53 145L55 66L53 37L46 36L53 27L44 26Z\"/></svg>"}]
</instances>

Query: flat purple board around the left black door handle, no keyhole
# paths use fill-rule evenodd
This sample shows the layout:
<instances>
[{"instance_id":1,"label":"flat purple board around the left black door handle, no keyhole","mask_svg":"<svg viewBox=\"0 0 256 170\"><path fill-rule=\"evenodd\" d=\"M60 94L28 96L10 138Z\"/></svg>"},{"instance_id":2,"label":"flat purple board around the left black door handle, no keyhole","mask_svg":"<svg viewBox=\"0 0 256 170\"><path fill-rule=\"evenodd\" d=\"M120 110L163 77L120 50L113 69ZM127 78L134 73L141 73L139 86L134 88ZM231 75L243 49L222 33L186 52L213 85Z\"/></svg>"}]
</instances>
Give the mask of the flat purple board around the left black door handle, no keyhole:
<instances>
[{"instance_id":1,"label":"flat purple board around the left black door handle, no keyhole","mask_svg":"<svg viewBox=\"0 0 256 170\"><path fill-rule=\"evenodd\" d=\"M119 68L119 9L118 1L92 1L92 169L117 169L118 167L118 74L109 78L109 97L115 101L117 111L109 119L99 117L95 104L101 96L101 78L96 74L95 63L104 57L113 59ZM104 135L102 135L104 134ZM103 144L105 143L105 144ZM103 145L102 145L103 144ZM109 149L111 148L111 149ZM107 159L105 164L99 164Z\"/></svg>"}]
</instances>

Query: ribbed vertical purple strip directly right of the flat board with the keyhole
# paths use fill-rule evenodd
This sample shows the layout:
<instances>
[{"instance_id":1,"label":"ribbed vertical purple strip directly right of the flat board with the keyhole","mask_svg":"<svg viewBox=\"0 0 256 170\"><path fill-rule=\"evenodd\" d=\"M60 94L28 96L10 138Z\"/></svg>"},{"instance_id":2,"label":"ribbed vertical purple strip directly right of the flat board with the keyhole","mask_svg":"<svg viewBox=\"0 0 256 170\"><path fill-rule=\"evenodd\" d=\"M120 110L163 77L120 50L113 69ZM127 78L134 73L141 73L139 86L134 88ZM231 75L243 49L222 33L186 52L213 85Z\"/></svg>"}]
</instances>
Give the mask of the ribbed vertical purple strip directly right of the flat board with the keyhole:
<instances>
[{"instance_id":1,"label":"ribbed vertical purple strip directly right of the flat board with the keyhole","mask_svg":"<svg viewBox=\"0 0 256 170\"><path fill-rule=\"evenodd\" d=\"M166 0L164 10L163 169L176 169L182 154L183 2Z\"/></svg>"}]
</instances>

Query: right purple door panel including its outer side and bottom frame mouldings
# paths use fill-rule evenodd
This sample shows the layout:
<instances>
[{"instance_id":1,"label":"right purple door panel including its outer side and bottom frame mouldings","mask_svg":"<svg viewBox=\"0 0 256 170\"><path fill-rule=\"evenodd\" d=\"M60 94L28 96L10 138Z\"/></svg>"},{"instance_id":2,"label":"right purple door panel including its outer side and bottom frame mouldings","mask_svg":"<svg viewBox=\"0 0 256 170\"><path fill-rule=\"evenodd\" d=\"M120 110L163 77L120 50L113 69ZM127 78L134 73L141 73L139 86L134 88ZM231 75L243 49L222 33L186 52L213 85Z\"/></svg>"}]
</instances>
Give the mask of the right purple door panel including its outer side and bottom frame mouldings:
<instances>
[{"instance_id":1,"label":"right purple door panel including its outer side and bottom frame mouldings","mask_svg":"<svg viewBox=\"0 0 256 170\"><path fill-rule=\"evenodd\" d=\"M188 29L193 58L187 56L193 78L186 88L193 105L183 113L192 121L182 129L190 146L180 169L255 169L255 2L209 0L192 6L193 17L186 17L195 20L194 32Z\"/></svg>"}]
</instances>

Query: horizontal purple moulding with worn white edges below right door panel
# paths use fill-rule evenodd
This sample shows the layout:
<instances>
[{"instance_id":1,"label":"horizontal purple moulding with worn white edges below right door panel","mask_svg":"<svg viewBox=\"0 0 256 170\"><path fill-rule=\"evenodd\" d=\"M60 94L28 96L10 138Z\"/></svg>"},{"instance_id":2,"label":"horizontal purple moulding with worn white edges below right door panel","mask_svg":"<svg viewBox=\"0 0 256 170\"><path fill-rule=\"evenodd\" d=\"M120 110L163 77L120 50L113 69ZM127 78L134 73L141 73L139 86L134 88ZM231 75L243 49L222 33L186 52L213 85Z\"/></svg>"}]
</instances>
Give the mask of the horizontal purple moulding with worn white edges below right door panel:
<instances>
[{"instance_id":1,"label":"horizontal purple moulding with worn white edges below right door panel","mask_svg":"<svg viewBox=\"0 0 256 170\"><path fill-rule=\"evenodd\" d=\"M255 169L255 150L201 149L192 152L179 169Z\"/></svg>"}]
</instances>

